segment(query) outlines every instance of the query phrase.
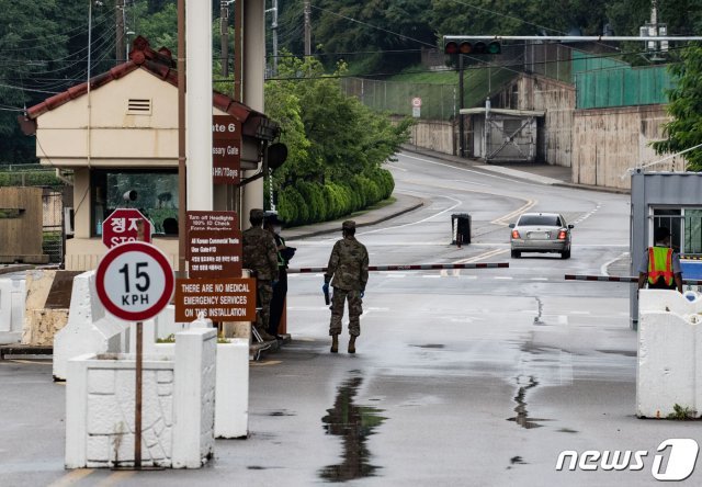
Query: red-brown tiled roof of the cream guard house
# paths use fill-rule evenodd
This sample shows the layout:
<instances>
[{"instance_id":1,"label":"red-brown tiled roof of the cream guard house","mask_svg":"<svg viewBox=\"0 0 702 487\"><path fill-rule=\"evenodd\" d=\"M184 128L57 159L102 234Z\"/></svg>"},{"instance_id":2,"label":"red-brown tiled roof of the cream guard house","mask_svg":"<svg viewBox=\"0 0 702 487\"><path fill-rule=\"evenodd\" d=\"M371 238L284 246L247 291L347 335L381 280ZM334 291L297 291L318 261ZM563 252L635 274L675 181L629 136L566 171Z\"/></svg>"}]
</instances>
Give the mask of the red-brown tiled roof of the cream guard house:
<instances>
[{"instance_id":1,"label":"red-brown tiled roof of the cream guard house","mask_svg":"<svg viewBox=\"0 0 702 487\"><path fill-rule=\"evenodd\" d=\"M171 52L166 47L154 50L146 38L138 36L132 44L129 60L115 66L107 72L91 78L90 90L98 90L111 81L123 78L137 69L144 69L161 80L178 87L178 71L176 70L176 61L173 60ZM29 107L26 116L20 117L22 132L26 135L34 135L36 133L37 117L86 93L88 93L87 81ZM213 91L213 105L237 117L241 122L241 133L246 136L269 141L278 136L280 128L276 123L272 122L263 113L257 112L226 94Z\"/></svg>"}]
</instances>

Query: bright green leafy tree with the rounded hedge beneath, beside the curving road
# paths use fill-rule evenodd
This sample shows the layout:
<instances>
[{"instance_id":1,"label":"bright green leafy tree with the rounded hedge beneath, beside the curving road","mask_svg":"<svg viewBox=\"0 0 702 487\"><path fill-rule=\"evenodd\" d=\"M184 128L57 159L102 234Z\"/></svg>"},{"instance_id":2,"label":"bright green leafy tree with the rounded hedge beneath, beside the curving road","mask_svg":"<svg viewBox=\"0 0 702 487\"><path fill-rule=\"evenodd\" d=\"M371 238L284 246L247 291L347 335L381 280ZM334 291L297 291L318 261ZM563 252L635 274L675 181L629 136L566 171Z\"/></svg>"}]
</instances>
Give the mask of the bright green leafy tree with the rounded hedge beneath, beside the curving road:
<instances>
[{"instance_id":1,"label":"bright green leafy tree with the rounded hedge beneath, beside the curving road","mask_svg":"<svg viewBox=\"0 0 702 487\"><path fill-rule=\"evenodd\" d=\"M315 59L282 58L280 79L265 86L265 111L283 129L287 161L273 173L280 216L292 225L349 215L390 195L381 166L408 139L410 120L393 124L346 97L338 76Z\"/></svg>"}]
</instances>

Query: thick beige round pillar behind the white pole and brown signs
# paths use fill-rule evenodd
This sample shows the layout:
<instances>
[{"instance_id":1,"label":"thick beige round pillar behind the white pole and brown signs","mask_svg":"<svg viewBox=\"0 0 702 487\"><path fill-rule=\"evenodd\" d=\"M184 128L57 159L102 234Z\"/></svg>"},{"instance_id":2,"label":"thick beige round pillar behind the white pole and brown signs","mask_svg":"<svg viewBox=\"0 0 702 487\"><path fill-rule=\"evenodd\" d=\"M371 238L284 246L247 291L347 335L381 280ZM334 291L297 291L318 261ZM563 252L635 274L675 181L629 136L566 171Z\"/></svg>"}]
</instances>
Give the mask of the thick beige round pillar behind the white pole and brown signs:
<instances>
[{"instance_id":1,"label":"thick beige round pillar behind the white pole and brown signs","mask_svg":"<svg viewBox=\"0 0 702 487\"><path fill-rule=\"evenodd\" d=\"M245 0L244 4L244 103L263 113L265 75L265 2ZM247 175L253 172L248 171ZM245 186L242 228L248 228L249 211L263 207L263 179Z\"/></svg>"}]
</instances>

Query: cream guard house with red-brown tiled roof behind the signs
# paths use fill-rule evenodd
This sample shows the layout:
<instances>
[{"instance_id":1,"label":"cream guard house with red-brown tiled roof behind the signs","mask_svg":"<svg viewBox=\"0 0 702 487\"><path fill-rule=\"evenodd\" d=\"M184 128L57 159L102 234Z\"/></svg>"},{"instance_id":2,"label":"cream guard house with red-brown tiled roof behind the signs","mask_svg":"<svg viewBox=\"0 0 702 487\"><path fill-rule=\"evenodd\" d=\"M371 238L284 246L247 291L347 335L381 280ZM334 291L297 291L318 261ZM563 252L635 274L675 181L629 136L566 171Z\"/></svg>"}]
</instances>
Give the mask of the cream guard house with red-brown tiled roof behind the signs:
<instances>
[{"instance_id":1,"label":"cream guard house with red-brown tiled roof behind the signs","mask_svg":"<svg viewBox=\"0 0 702 487\"><path fill-rule=\"evenodd\" d=\"M129 60L27 110L42 165L73 171L73 238L67 270L94 269L106 252L102 222L117 207L136 207L152 223L152 242L178 269L178 73L171 53L144 37ZM279 127L264 114L215 92L213 115L241 123L241 169L256 169ZM215 209L227 209L230 185L215 186ZM136 191L136 200L123 195ZM172 224L173 220L170 220Z\"/></svg>"}]
</instances>

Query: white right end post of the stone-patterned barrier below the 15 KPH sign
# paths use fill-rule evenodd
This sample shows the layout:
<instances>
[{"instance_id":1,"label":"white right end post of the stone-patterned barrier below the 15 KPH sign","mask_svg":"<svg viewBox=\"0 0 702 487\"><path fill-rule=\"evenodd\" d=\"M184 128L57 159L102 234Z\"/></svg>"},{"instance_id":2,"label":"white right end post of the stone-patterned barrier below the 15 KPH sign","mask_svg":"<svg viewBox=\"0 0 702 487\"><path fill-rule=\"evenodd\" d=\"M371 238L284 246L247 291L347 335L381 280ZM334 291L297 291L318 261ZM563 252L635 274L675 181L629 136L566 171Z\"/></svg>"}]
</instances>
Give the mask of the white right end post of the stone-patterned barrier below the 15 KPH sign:
<instances>
[{"instance_id":1,"label":"white right end post of the stone-patterned barrier below the 15 KPH sign","mask_svg":"<svg viewBox=\"0 0 702 487\"><path fill-rule=\"evenodd\" d=\"M214 454L215 329L176 335L173 468L200 468Z\"/></svg>"}]
</instances>

